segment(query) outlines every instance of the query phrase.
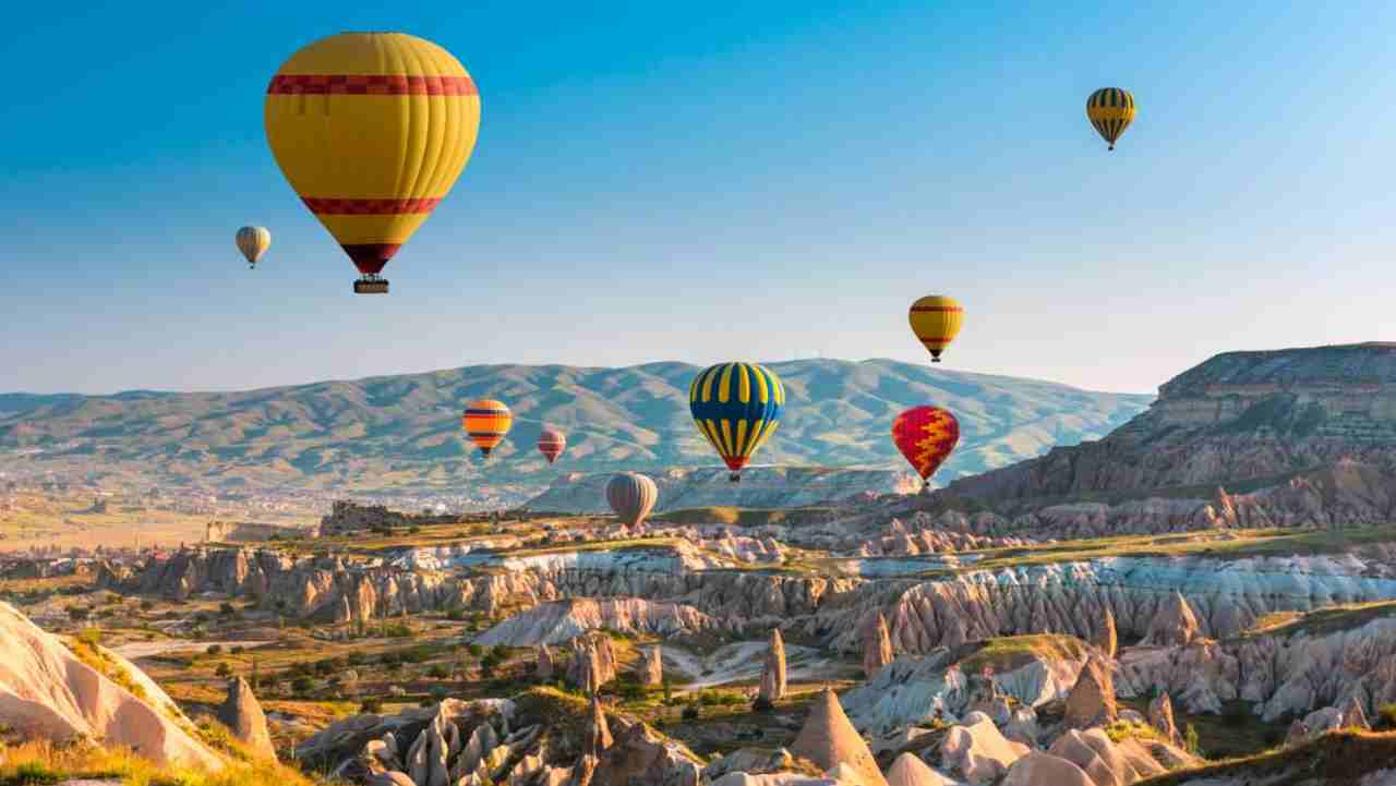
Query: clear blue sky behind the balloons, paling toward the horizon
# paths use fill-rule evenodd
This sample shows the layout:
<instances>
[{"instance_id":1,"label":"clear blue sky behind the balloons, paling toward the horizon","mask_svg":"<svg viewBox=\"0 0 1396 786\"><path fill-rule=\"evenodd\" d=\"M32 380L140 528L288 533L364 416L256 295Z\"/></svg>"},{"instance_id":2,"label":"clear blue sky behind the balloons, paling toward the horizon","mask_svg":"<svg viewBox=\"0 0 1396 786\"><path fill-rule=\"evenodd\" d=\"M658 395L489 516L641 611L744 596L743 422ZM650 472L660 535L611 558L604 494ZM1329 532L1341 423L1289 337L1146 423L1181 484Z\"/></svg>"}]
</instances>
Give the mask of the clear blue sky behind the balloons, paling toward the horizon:
<instances>
[{"instance_id":1,"label":"clear blue sky behind the balloons, paling toward the horizon","mask_svg":"<svg viewBox=\"0 0 1396 786\"><path fill-rule=\"evenodd\" d=\"M946 367L1097 390L1396 338L1389 1L214 6L7 10L0 391L923 362L930 292L967 307ZM483 101L387 297L262 135L282 60L353 29L445 46ZM1113 154L1107 85L1139 105Z\"/></svg>"}]
</instances>

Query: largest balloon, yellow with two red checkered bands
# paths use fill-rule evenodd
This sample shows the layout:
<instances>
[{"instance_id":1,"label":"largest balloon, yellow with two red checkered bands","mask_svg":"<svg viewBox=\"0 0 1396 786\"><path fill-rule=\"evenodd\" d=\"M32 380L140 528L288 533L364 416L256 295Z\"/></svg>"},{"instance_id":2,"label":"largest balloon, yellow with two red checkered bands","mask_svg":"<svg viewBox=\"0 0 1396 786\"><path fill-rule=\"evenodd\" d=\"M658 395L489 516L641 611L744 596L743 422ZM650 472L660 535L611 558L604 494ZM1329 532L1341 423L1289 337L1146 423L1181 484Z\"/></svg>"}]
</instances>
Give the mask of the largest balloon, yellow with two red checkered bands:
<instances>
[{"instance_id":1,"label":"largest balloon, yellow with two red checkered bands","mask_svg":"<svg viewBox=\"0 0 1396 786\"><path fill-rule=\"evenodd\" d=\"M387 293L383 265L470 159L480 95L430 40L346 32L282 63L265 123L282 175L363 274L353 290Z\"/></svg>"}]
</instances>

